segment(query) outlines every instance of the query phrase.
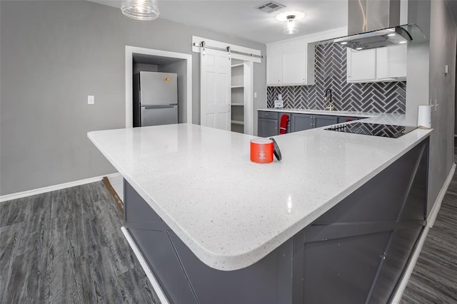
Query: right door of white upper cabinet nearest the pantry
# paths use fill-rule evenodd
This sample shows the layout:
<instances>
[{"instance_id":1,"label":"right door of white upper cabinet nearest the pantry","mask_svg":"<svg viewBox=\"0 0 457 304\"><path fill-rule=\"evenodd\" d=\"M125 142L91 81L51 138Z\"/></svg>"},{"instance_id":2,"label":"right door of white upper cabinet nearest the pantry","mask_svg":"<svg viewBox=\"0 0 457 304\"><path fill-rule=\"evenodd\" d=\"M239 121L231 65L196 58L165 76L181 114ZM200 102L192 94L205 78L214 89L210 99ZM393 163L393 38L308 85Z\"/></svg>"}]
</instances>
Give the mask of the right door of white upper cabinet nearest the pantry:
<instances>
[{"instance_id":1,"label":"right door of white upper cabinet nearest the pantry","mask_svg":"<svg viewBox=\"0 0 457 304\"><path fill-rule=\"evenodd\" d=\"M283 85L306 83L306 50L283 52Z\"/></svg>"}]
</instances>

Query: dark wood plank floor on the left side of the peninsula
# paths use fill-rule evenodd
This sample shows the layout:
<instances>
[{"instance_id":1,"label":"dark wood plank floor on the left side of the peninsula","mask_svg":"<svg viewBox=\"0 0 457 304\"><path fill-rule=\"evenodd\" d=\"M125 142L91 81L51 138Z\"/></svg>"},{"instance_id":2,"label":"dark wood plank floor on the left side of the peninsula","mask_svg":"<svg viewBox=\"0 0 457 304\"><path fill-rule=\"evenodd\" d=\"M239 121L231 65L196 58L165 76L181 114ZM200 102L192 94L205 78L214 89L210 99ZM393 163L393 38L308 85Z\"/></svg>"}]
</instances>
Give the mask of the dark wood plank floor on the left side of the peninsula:
<instances>
[{"instance_id":1,"label":"dark wood plank floor on the left side of the peninsula","mask_svg":"<svg viewBox=\"0 0 457 304\"><path fill-rule=\"evenodd\" d=\"M159 303L103 182L0 203L0 303Z\"/></svg>"}]
</instances>

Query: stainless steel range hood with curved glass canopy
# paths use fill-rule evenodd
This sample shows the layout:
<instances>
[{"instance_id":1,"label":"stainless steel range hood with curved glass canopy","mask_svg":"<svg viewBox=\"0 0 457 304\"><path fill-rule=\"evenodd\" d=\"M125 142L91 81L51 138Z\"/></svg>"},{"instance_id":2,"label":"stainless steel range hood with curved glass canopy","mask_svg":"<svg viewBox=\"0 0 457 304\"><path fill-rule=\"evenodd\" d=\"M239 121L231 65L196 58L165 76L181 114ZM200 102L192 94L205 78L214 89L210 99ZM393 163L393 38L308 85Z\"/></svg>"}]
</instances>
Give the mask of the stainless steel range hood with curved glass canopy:
<instances>
[{"instance_id":1,"label":"stainless steel range hood with curved glass canopy","mask_svg":"<svg viewBox=\"0 0 457 304\"><path fill-rule=\"evenodd\" d=\"M416 24L400 25L400 0L348 0L349 36L319 41L354 50L426 41Z\"/></svg>"}]
</instances>

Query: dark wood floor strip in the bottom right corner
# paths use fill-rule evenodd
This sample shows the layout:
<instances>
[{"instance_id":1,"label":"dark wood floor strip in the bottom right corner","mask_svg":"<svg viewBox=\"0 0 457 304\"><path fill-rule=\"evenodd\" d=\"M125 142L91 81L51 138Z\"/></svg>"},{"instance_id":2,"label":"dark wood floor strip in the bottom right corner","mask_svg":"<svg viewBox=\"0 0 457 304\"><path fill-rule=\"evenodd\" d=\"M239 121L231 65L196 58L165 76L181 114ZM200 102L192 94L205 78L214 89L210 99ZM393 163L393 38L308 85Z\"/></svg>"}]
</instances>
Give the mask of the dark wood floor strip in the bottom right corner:
<instances>
[{"instance_id":1,"label":"dark wood floor strip in the bottom right corner","mask_svg":"<svg viewBox=\"0 0 457 304\"><path fill-rule=\"evenodd\" d=\"M457 161L457 147L455 150ZM457 303L457 172L428 232L401 303Z\"/></svg>"}]
</instances>

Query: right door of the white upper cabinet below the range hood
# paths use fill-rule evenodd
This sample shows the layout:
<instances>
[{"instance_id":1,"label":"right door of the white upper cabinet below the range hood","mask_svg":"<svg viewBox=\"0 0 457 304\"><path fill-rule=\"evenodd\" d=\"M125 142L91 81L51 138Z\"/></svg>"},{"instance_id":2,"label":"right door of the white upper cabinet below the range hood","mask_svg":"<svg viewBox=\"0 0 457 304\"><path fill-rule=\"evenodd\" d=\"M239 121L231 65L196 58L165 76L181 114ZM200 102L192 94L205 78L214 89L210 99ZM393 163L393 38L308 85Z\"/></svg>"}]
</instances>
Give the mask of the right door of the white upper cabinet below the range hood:
<instances>
[{"instance_id":1,"label":"right door of the white upper cabinet below the range hood","mask_svg":"<svg viewBox=\"0 0 457 304\"><path fill-rule=\"evenodd\" d=\"M406 78L406 44L376 49L376 78Z\"/></svg>"}]
</instances>

